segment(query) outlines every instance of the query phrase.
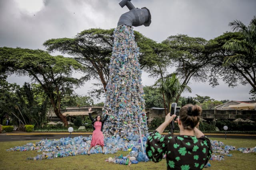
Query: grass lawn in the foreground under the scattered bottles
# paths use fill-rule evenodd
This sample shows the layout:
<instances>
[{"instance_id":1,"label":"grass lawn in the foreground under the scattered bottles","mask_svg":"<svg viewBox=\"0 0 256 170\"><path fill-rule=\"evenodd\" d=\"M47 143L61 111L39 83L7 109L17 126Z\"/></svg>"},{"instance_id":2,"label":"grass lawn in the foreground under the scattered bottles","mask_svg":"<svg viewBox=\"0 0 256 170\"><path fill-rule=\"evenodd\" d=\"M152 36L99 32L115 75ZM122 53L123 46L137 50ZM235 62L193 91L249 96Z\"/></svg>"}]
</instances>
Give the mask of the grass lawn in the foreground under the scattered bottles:
<instances>
[{"instance_id":1,"label":"grass lawn in the foreground under the scattered bottles","mask_svg":"<svg viewBox=\"0 0 256 170\"><path fill-rule=\"evenodd\" d=\"M211 138L212 140L218 140L224 142L225 145L232 145L238 147L255 147L256 139L223 139L223 138ZM65 158L54 158L48 160L26 160L28 157L34 157L38 154L36 150L25 152L10 152L6 149L10 149L15 146L22 146L26 143L35 143L36 141L15 141L15 142L0 142L0 169L13 170L13 169L99 169L99 170L166 170L166 160L154 163L139 162L138 164L131 164L130 166L119 165L105 162L108 157L119 156L120 154L126 155L127 152L118 151L116 154L91 154L68 156ZM244 154L237 150L230 151L233 156L225 156L225 160L210 160L212 165L206 170L255 170L256 165L254 163L256 153ZM41 154L41 152L39 152Z\"/></svg>"}]
</instances>

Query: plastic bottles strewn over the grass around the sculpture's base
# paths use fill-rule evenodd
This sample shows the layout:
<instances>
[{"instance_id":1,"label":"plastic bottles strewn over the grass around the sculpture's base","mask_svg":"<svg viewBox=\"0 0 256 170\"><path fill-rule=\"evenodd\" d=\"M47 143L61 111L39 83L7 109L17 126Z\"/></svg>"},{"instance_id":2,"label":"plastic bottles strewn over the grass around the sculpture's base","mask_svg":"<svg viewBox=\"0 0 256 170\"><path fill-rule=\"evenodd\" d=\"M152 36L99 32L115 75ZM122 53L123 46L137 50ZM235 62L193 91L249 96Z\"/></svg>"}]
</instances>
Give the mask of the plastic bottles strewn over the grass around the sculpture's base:
<instances>
[{"instance_id":1,"label":"plastic bottles strewn over the grass around the sculpture's base","mask_svg":"<svg viewBox=\"0 0 256 170\"><path fill-rule=\"evenodd\" d=\"M129 139L129 140L128 140ZM136 164L138 162L148 162L148 156L146 156L145 145L147 137L140 137L133 133L128 133L126 139L120 137L106 137L104 139L104 151L105 154L114 154L118 150L129 151L126 156L115 156L114 158L109 157L106 162L112 162L116 164ZM42 154L38 154L35 157L27 158L29 160L42 160L42 159L52 159L52 158L62 158L66 156L75 156L79 154L87 154L90 147L91 136L90 137L66 137L61 139L47 140L43 139L36 143L27 143L26 145L10 148L7 151L27 151L27 150L37 150ZM224 156L232 156L229 154L229 150L236 150L235 147L224 145L220 141L211 141L212 144L212 157L210 160L224 160ZM224 147L224 148L223 148ZM256 147L254 148L238 148L237 150L243 153L256 152ZM94 147L90 150L90 154L102 153L100 146ZM217 155L214 153L220 153L222 155ZM165 158L165 157L163 157ZM209 167L210 163L205 167Z\"/></svg>"}]
</instances>

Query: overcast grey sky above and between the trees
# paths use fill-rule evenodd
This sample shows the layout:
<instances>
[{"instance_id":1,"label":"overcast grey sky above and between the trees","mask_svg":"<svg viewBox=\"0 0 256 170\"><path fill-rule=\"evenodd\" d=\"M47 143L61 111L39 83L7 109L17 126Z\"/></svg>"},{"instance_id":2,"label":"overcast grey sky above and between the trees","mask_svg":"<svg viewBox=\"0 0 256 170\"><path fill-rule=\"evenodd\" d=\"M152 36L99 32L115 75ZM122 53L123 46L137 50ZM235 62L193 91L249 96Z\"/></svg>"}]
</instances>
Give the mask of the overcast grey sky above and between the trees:
<instances>
[{"instance_id":1,"label":"overcast grey sky above and between the trees","mask_svg":"<svg viewBox=\"0 0 256 170\"><path fill-rule=\"evenodd\" d=\"M42 44L52 38L74 37L84 29L115 28L119 17L128 12L120 0L0 0L0 47L45 49ZM150 10L149 27L134 27L146 37L162 42L170 35L187 34L206 40L231 31L229 22L240 20L248 25L256 16L256 0L132 0L136 8ZM11 76L10 83L22 85L29 78ZM142 84L154 84L154 78L142 74ZM93 81L91 81L93 82ZM92 87L87 82L76 93L86 95ZM210 96L215 100L249 100L251 87L229 88L220 82L216 88L208 83L192 82L192 93L182 96ZM99 101L102 102L103 100ZM97 101L95 101L97 103Z\"/></svg>"}]
</instances>

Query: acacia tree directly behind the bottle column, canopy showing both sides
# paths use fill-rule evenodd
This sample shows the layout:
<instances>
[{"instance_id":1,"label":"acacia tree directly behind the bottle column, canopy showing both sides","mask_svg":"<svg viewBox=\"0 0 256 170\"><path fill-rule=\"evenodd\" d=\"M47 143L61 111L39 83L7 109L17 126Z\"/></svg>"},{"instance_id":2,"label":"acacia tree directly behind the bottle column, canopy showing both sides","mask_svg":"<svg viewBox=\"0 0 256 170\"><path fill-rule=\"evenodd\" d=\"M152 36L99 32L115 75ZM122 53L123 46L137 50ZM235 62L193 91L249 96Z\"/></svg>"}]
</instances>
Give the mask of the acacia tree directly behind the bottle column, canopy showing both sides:
<instances>
[{"instance_id":1,"label":"acacia tree directly behind the bottle column, canopy showing both sides","mask_svg":"<svg viewBox=\"0 0 256 170\"><path fill-rule=\"evenodd\" d=\"M99 97L106 92L109 76L109 62L112 55L114 42L114 29L88 29L78 33L74 38L49 39L44 46L49 52L58 51L74 57L76 61L86 67L84 78L86 80L100 80L103 88L94 89L94 95ZM141 33L134 31L135 41L140 48L139 63L141 69L149 69L153 66L157 43ZM152 58L153 57L153 58ZM100 84L94 84L100 85Z\"/></svg>"}]
</instances>

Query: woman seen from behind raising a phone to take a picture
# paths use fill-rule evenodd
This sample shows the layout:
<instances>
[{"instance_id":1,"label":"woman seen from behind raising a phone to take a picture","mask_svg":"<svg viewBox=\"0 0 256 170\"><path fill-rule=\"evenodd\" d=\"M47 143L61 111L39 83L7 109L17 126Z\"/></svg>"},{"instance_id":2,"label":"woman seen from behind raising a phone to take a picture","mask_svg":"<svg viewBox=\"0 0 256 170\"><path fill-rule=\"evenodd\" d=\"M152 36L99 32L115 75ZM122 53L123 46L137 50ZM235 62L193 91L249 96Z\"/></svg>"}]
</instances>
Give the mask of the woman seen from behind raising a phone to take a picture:
<instances>
[{"instance_id":1,"label":"woman seen from behind raising a phone to take a picture","mask_svg":"<svg viewBox=\"0 0 256 170\"><path fill-rule=\"evenodd\" d=\"M168 113L155 131L150 133L146 145L146 154L154 162L162 160L166 154L167 169L199 170L204 168L211 158L212 145L210 140L198 129L202 108L188 104L180 109L177 118L180 135L162 136L164 129L176 117Z\"/></svg>"}]
</instances>

